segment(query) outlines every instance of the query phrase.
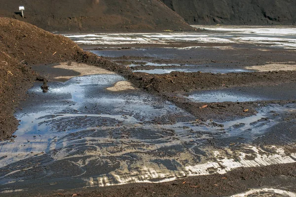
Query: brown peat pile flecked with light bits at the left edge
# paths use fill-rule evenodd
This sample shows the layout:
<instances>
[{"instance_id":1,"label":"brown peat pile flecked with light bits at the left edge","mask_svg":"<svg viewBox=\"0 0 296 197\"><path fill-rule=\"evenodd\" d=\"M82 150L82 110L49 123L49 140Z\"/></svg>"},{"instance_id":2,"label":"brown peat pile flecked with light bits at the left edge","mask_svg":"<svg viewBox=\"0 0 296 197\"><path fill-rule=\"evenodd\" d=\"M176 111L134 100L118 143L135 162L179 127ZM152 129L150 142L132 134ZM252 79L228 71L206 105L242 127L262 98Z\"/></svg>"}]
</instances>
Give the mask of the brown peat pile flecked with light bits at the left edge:
<instances>
[{"instance_id":1,"label":"brown peat pile flecked with light bits at the left edge","mask_svg":"<svg viewBox=\"0 0 296 197\"><path fill-rule=\"evenodd\" d=\"M74 60L82 50L69 38L14 19L0 18L0 27L0 138L4 138L16 130L14 108L37 79L30 65Z\"/></svg>"}]
</instances>

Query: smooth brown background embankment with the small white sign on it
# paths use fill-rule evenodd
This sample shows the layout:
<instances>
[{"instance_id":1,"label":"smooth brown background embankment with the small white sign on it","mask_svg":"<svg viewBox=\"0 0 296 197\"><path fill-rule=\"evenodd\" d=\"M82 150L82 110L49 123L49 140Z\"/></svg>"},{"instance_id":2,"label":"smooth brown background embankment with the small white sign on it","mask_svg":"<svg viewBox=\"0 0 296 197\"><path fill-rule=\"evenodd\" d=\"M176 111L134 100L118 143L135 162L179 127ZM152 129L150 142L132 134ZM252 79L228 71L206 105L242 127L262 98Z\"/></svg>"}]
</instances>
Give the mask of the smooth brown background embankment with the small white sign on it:
<instances>
[{"instance_id":1,"label":"smooth brown background embankment with the small white sign on it","mask_svg":"<svg viewBox=\"0 0 296 197\"><path fill-rule=\"evenodd\" d=\"M20 4L26 9L24 19ZM159 0L4 0L0 17L59 32L192 30Z\"/></svg>"}]
</instances>

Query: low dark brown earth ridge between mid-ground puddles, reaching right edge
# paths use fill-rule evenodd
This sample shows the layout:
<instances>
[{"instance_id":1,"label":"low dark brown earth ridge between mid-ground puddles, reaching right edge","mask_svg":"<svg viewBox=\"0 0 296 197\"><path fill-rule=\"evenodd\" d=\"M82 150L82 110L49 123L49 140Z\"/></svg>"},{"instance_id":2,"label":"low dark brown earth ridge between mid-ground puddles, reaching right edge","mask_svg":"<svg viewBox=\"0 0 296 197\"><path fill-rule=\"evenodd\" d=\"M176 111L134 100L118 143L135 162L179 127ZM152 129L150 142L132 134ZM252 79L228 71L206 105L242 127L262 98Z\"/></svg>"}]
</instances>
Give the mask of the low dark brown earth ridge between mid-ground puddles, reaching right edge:
<instances>
[{"instance_id":1,"label":"low dark brown earth ridge between mid-ground puddles, reaching right edge","mask_svg":"<svg viewBox=\"0 0 296 197\"><path fill-rule=\"evenodd\" d=\"M191 92L194 90L220 89L225 87L277 85L296 81L296 71L243 72L243 73L201 73L171 72L153 75L133 73L134 83L149 92L162 93ZM137 80L137 81L136 81Z\"/></svg>"}]
</instances>

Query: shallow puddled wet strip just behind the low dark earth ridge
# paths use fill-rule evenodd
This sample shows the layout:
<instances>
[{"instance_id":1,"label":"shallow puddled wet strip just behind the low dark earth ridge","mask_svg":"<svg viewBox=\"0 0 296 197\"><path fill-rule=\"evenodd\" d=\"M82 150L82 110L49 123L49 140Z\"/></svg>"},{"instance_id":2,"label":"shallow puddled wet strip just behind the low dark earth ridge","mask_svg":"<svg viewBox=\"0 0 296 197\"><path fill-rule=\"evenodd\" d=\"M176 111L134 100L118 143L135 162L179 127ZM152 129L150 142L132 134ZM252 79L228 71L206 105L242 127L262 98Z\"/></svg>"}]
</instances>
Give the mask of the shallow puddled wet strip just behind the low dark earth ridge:
<instances>
[{"instance_id":1,"label":"shallow puddled wet strip just behind the low dark earth ridge","mask_svg":"<svg viewBox=\"0 0 296 197\"><path fill-rule=\"evenodd\" d=\"M232 51L228 49L228 52L217 52L211 49L195 47L186 47L186 50L176 48L130 48L124 50L105 49L89 51L96 55L119 61L119 64L122 63L125 66L130 66L134 72L150 74L164 74L173 71L230 73L254 72L258 70L295 70L296 59L294 56L289 56L288 59L285 59L284 56L280 55L281 53L274 49L276 57L272 58L283 59L283 62L266 62L267 60L270 61L269 53L258 52L258 50L261 50L260 48L252 48L250 50L246 51L244 47L240 46ZM256 54L262 56L262 58L257 60L258 55Z\"/></svg>"}]
</instances>

